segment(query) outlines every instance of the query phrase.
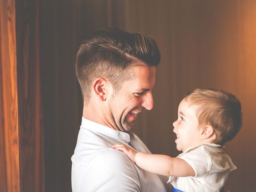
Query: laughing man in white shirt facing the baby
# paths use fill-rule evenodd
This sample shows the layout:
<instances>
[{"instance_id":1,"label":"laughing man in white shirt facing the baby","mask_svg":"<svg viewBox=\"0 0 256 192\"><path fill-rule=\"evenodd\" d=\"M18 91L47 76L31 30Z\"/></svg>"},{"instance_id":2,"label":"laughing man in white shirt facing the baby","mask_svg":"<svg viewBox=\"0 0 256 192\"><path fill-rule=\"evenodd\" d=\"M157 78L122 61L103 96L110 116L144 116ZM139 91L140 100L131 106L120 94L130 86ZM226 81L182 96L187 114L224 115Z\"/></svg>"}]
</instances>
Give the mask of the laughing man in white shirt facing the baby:
<instances>
[{"instance_id":1,"label":"laughing man in white shirt facing the baby","mask_svg":"<svg viewBox=\"0 0 256 192\"><path fill-rule=\"evenodd\" d=\"M156 42L142 34L116 28L92 33L80 46L76 75L84 108L72 156L73 192L162 192L157 175L138 168L111 146L122 143L149 152L131 132L144 108L153 108Z\"/></svg>"}]
</instances>

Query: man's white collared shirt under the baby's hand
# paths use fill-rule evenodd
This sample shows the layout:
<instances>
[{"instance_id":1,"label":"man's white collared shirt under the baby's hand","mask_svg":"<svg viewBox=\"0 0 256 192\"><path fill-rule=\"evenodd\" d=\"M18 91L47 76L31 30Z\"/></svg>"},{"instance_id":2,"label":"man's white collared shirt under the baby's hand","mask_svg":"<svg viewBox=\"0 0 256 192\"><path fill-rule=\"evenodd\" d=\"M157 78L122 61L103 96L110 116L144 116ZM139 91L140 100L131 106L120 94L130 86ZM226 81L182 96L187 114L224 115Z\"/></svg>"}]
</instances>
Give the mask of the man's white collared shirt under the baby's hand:
<instances>
[{"instance_id":1,"label":"man's white collared shirt under the baby's hand","mask_svg":"<svg viewBox=\"0 0 256 192\"><path fill-rule=\"evenodd\" d=\"M113 144L122 143L150 153L135 134L121 132L82 118L72 156L73 192L166 192L156 174L138 168Z\"/></svg>"}]
</instances>

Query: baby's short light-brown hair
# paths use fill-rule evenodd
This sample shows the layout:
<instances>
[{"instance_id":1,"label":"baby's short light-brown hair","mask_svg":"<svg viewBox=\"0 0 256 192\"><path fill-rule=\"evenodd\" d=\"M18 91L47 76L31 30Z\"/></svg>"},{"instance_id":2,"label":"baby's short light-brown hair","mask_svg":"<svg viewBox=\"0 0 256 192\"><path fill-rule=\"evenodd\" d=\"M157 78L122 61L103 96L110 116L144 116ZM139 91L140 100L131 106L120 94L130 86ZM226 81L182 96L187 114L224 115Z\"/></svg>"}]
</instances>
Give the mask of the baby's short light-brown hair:
<instances>
[{"instance_id":1,"label":"baby's short light-brown hair","mask_svg":"<svg viewBox=\"0 0 256 192\"><path fill-rule=\"evenodd\" d=\"M215 144L232 140L242 126L241 103L231 93L218 89L194 89L184 98L189 105L198 105L200 128L210 124L214 128Z\"/></svg>"}]
</instances>

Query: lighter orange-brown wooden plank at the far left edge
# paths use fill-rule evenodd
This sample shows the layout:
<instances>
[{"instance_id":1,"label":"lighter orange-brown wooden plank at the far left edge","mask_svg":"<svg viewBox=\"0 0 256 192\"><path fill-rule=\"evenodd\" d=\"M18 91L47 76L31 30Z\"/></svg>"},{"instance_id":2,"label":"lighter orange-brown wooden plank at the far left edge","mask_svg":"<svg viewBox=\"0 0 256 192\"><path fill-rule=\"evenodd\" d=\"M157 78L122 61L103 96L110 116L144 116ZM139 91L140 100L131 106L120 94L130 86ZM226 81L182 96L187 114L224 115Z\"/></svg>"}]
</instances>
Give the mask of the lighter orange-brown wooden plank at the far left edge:
<instances>
[{"instance_id":1,"label":"lighter orange-brown wooden plank at the far left edge","mask_svg":"<svg viewBox=\"0 0 256 192\"><path fill-rule=\"evenodd\" d=\"M0 43L0 191L19 192L14 0L0 0Z\"/></svg>"}]
</instances>

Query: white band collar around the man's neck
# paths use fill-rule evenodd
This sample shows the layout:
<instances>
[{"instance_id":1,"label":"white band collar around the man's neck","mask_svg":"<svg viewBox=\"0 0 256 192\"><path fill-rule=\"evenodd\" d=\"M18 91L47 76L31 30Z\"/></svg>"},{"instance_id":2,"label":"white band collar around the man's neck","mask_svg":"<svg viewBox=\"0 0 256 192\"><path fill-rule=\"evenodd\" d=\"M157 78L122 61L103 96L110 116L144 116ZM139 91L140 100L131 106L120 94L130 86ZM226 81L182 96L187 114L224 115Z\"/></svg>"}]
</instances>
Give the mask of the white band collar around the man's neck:
<instances>
[{"instance_id":1,"label":"white band collar around the man's neck","mask_svg":"<svg viewBox=\"0 0 256 192\"><path fill-rule=\"evenodd\" d=\"M110 127L88 120L84 117L82 117L81 128L91 130L93 132L98 132L115 140L122 140L127 144L130 142L130 135L128 133L114 130Z\"/></svg>"}]
</instances>

